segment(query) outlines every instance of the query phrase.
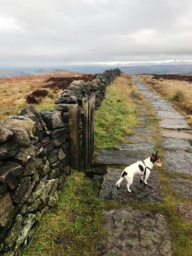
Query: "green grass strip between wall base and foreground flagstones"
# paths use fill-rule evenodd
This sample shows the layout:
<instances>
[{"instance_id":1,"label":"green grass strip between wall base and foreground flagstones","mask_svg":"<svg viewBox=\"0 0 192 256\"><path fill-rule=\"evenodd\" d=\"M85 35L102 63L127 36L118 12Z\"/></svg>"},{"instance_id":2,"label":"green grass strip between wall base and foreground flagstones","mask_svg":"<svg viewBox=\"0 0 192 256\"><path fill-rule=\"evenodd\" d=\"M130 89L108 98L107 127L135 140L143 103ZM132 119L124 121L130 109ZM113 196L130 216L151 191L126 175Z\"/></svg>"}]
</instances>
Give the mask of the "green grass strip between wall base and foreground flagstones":
<instances>
[{"instance_id":1,"label":"green grass strip between wall base and foreground flagstones","mask_svg":"<svg viewBox=\"0 0 192 256\"><path fill-rule=\"evenodd\" d=\"M56 209L44 215L21 255L95 255L95 245L104 234L100 182L77 171L67 177Z\"/></svg>"}]
</instances>

